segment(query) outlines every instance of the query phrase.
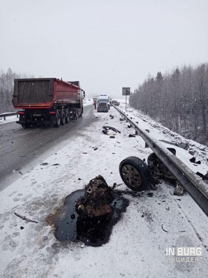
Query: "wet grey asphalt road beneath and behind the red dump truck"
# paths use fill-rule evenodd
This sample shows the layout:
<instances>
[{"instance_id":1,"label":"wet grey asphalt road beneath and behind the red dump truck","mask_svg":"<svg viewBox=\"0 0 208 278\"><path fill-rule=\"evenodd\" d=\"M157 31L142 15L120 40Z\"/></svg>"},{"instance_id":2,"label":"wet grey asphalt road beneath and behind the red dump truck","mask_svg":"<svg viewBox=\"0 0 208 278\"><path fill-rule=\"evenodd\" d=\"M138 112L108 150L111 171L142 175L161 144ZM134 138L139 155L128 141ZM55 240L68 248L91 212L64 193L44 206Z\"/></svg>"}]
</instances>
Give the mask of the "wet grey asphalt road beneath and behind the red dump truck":
<instances>
[{"instance_id":1,"label":"wet grey asphalt road beneath and behind the red dump truck","mask_svg":"<svg viewBox=\"0 0 208 278\"><path fill-rule=\"evenodd\" d=\"M96 119L93 109L92 105L84 106L82 117L59 128L43 125L24 129L15 121L0 125L0 191L46 159L50 150L67 144L65 140L76 131L89 126Z\"/></svg>"}]
</instances>

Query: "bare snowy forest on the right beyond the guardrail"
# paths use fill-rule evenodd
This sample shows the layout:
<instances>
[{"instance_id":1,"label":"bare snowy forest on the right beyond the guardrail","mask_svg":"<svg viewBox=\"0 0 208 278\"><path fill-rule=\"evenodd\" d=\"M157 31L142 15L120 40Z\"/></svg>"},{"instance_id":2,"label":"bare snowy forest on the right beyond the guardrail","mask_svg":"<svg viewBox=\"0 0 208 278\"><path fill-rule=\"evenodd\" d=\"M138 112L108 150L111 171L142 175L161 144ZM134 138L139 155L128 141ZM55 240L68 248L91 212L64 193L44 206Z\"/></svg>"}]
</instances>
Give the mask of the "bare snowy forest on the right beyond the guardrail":
<instances>
[{"instance_id":1,"label":"bare snowy forest on the right beyond the guardrail","mask_svg":"<svg viewBox=\"0 0 208 278\"><path fill-rule=\"evenodd\" d=\"M187 139L208 144L208 63L150 74L129 104Z\"/></svg>"}]
</instances>

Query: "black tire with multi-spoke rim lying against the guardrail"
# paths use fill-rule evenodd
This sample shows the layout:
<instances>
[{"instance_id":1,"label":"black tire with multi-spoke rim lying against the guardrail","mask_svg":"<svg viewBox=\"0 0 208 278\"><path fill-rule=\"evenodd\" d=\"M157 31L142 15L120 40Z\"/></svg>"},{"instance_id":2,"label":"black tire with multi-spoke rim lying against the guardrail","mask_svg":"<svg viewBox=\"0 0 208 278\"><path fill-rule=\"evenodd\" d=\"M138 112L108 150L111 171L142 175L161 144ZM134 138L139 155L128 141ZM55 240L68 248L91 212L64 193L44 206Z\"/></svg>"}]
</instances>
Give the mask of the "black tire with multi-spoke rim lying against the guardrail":
<instances>
[{"instance_id":1,"label":"black tire with multi-spoke rim lying against the guardrail","mask_svg":"<svg viewBox=\"0 0 208 278\"><path fill-rule=\"evenodd\" d=\"M122 160L119 173L124 183L134 191L147 190L152 181L147 164L138 157L127 157Z\"/></svg>"}]
</instances>

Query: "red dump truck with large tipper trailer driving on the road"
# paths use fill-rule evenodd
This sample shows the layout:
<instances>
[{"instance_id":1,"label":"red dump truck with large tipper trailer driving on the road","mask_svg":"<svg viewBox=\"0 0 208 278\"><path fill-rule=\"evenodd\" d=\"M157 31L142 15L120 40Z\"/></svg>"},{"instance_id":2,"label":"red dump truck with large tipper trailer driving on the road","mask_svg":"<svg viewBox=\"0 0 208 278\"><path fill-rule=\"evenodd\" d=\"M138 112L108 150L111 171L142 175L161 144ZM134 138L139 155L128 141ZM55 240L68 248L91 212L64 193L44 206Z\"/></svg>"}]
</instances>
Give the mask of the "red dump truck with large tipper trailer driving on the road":
<instances>
[{"instance_id":1,"label":"red dump truck with large tipper trailer driving on the road","mask_svg":"<svg viewBox=\"0 0 208 278\"><path fill-rule=\"evenodd\" d=\"M65 82L56 78L14 79L12 103L24 128L31 124L60 124L77 119L83 113L85 92L79 81Z\"/></svg>"}]
</instances>

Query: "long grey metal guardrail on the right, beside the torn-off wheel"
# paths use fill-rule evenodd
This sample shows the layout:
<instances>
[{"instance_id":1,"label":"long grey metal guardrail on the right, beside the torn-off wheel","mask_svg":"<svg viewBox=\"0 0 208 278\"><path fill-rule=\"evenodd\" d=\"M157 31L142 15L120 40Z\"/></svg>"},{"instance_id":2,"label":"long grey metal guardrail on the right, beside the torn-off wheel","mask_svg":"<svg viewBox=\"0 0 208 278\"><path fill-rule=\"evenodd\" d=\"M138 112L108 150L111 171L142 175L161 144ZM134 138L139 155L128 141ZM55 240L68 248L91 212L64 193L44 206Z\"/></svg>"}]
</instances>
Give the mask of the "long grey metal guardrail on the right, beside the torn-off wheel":
<instances>
[{"instance_id":1,"label":"long grey metal guardrail on the right, beside the torn-off wheel","mask_svg":"<svg viewBox=\"0 0 208 278\"><path fill-rule=\"evenodd\" d=\"M138 124L128 117L121 109L114 106L118 112L131 124L131 126L138 132L142 139L153 150L157 157L164 163L169 171L175 176L179 183L181 183L189 195L194 199L197 205L208 216L208 184L197 176L188 166L165 148L159 141L157 141L147 131L139 128Z\"/></svg>"}]
</instances>

